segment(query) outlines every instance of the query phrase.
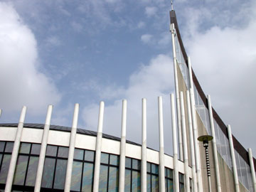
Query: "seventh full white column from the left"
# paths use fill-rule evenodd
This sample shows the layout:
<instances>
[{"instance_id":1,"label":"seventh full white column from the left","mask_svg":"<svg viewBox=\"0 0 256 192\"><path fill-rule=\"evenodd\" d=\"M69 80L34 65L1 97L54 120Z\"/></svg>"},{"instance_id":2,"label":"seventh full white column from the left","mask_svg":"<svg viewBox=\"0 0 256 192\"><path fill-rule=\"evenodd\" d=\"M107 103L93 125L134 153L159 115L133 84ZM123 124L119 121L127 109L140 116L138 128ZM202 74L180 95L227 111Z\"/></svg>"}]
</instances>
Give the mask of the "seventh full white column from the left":
<instances>
[{"instance_id":1,"label":"seventh full white column from the left","mask_svg":"<svg viewBox=\"0 0 256 192\"><path fill-rule=\"evenodd\" d=\"M164 176L164 124L163 124L163 100L158 97L159 110L159 178L160 192L165 192L165 176Z\"/></svg>"}]
</instances>

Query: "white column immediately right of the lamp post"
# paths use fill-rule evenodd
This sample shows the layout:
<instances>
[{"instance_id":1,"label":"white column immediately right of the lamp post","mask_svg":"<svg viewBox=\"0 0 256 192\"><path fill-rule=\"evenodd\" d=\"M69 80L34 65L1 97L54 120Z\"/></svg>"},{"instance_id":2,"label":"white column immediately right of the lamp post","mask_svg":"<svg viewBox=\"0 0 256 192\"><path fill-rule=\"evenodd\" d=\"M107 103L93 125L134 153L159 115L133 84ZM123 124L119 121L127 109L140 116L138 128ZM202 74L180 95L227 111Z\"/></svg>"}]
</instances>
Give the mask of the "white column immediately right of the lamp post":
<instances>
[{"instance_id":1,"label":"white column immediately right of the lamp post","mask_svg":"<svg viewBox=\"0 0 256 192\"><path fill-rule=\"evenodd\" d=\"M216 145L216 139L215 139L216 137L215 137L214 124L213 124L213 110L210 102L210 95L207 95L207 100L208 100L208 110L209 110L209 116L210 116L210 131L213 136L213 158L214 158L214 165L215 165L217 191L221 192L220 169L218 166L218 151L217 151L217 145Z\"/></svg>"}]
</instances>

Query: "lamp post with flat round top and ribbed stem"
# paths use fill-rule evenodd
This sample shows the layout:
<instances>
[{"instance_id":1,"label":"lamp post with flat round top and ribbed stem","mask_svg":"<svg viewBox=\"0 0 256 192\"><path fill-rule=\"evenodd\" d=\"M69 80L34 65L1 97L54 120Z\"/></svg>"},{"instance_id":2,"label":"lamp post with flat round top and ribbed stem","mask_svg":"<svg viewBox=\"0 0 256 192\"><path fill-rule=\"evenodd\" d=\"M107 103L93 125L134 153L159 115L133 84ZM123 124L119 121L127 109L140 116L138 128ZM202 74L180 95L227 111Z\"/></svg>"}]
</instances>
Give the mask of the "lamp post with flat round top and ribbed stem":
<instances>
[{"instance_id":1,"label":"lamp post with flat round top and ribbed stem","mask_svg":"<svg viewBox=\"0 0 256 192\"><path fill-rule=\"evenodd\" d=\"M213 140L213 136L210 135L202 135L198 137L199 142L203 142L203 147L206 149L206 170L207 170L207 177L208 177L208 188L209 192L211 192L210 187L210 161L209 161L209 153L208 153L208 146L209 141Z\"/></svg>"}]
</instances>

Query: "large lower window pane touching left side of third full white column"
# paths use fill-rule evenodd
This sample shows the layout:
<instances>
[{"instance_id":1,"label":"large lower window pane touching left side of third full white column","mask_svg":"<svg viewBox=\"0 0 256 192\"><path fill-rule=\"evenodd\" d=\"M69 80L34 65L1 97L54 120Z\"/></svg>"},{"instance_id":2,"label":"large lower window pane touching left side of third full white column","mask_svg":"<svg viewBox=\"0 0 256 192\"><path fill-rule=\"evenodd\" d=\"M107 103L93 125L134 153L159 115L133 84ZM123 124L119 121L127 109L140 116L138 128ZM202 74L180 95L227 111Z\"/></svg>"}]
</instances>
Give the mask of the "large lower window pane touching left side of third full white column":
<instances>
[{"instance_id":1,"label":"large lower window pane touching left side of third full white column","mask_svg":"<svg viewBox=\"0 0 256 192\"><path fill-rule=\"evenodd\" d=\"M64 189L67 160L57 159L53 188Z\"/></svg>"}]
</instances>

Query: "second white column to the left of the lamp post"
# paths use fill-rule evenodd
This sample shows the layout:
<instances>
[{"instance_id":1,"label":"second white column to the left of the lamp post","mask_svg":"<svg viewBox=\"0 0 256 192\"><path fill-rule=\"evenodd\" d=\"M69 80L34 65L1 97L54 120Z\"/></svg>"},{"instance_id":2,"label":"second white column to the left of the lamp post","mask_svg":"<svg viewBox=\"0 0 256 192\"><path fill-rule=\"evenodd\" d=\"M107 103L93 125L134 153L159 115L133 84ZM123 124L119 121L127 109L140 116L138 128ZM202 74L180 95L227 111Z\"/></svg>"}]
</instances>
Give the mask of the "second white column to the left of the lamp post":
<instances>
[{"instance_id":1,"label":"second white column to the left of the lamp post","mask_svg":"<svg viewBox=\"0 0 256 192\"><path fill-rule=\"evenodd\" d=\"M186 91L186 102L188 110L188 129L189 129L189 142L191 146L191 166L192 166L192 181L193 181L193 191L197 192L197 179L196 179L196 161L195 161L195 149L193 142L193 127L192 127L192 117L191 117L191 101L189 91Z\"/></svg>"}]
</instances>

